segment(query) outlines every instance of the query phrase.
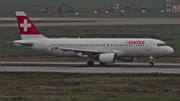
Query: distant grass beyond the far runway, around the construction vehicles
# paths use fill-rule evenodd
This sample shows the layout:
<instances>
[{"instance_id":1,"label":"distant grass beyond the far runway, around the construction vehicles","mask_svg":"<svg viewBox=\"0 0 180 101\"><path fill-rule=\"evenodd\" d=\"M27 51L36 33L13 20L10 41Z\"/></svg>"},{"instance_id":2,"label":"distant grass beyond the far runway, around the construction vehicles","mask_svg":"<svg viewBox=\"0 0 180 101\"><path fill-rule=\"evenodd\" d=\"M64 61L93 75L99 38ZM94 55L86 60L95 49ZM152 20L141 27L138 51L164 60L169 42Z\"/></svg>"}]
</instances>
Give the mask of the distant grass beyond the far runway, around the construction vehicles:
<instances>
[{"instance_id":1,"label":"distant grass beyond the far runway, around the construction vehicles","mask_svg":"<svg viewBox=\"0 0 180 101\"><path fill-rule=\"evenodd\" d=\"M79 12L79 17L179 17L179 13L153 13L154 10L160 12L160 10L165 10L166 3L165 0L0 0L0 17L14 17L14 11L23 10L29 16L35 17L45 17L45 16L61 16L61 17L73 17L75 14L63 13L54 14L52 12L57 12L58 7L61 3L67 3L68 5L75 8L76 12ZM134 5L135 9L138 11L136 13L112 13L112 14L91 14L97 9L104 12L108 6L115 6L115 4L123 4L125 6L131 7ZM176 0L177 4L180 3ZM141 6L146 5L149 13L140 13ZM41 9L47 6L51 13L41 13ZM62 8L64 9L64 8Z\"/></svg>"}]
</instances>

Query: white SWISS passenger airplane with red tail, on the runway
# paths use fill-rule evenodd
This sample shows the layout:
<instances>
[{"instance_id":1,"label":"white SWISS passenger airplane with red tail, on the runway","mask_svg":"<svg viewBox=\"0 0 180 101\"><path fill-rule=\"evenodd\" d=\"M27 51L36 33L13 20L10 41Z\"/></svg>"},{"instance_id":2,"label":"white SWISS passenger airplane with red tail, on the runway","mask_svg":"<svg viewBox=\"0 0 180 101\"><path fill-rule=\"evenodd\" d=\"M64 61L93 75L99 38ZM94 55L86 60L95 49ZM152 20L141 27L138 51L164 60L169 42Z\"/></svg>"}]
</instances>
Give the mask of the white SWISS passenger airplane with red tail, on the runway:
<instances>
[{"instance_id":1,"label":"white SWISS passenger airplane with red tail, on the runway","mask_svg":"<svg viewBox=\"0 0 180 101\"><path fill-rule=\"evenodd\" d=\"M173 48L165 42L152 38L47 38L43 36L23 11L16 11L21 40L14 45L61 57L89 58L87 66L115 63L116 60L133 62L137 57L152 59L170 55Z\"/></svg>"}]
</instances>

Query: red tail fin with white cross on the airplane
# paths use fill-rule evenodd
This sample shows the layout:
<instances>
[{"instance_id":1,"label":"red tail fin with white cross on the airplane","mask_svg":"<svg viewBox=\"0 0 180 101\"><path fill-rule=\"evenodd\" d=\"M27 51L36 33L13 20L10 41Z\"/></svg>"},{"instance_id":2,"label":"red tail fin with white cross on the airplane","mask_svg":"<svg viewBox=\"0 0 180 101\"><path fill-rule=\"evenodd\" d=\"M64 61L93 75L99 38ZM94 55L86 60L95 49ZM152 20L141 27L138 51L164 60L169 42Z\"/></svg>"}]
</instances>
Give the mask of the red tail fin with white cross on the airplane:
<instances>
[{"instance_id":1,"label":"red tail fin with white cross on the airplane","mask_svg":"<svg viewBox=\"0 0 180 101\"><path fill-rule=\"evenodd\" d=\"M17 11L16 18L21 34L41 34L23 11Z\"/></svg>"}]
</instances>

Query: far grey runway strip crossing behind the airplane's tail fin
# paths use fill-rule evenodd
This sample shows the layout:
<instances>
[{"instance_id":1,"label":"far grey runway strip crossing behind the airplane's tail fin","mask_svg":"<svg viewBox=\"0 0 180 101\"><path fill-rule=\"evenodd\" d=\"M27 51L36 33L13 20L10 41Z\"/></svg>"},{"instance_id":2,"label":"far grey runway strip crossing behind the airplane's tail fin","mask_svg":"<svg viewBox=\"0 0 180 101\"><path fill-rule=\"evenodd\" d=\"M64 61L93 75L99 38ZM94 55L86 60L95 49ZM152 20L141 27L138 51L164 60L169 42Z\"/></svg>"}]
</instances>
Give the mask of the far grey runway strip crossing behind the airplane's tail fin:
<instances>
[{"instance_id":1,"label":"far grey runway strip crossing behind the airplane's tail fin","mask_svg":"<svg viewBox=\"0 0 180 101\"><path fill-rule=\"evenodd\" d=\"M152 25L180 24L178 18L31 18L36 26L90 26L90 25ZM16 20L15 18L0 18L0 21ZM1 23L0 27L17 27L17 23Z\"/></svg>"}]
</instances>

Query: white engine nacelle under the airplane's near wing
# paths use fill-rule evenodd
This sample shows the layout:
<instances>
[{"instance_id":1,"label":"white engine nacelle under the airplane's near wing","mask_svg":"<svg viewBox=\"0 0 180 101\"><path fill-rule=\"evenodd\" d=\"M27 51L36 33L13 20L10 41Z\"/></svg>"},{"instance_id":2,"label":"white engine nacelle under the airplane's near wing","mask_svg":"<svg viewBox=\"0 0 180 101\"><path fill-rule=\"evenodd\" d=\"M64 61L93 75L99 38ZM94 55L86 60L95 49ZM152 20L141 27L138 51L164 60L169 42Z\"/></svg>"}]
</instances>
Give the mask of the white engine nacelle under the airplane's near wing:
<instances>
[{"instance_id":1,"label":"white engine nacelle under the airplane's near wing","mask_svg":"<svg viewBox=\"0 0 180 101\"><path fill-rule=\"evenodd\" d=\"M99 55L99 61L102 63L115 63L117 56L115 53L105 53Z\"/></svg>"}]
</instances>

